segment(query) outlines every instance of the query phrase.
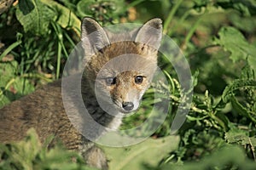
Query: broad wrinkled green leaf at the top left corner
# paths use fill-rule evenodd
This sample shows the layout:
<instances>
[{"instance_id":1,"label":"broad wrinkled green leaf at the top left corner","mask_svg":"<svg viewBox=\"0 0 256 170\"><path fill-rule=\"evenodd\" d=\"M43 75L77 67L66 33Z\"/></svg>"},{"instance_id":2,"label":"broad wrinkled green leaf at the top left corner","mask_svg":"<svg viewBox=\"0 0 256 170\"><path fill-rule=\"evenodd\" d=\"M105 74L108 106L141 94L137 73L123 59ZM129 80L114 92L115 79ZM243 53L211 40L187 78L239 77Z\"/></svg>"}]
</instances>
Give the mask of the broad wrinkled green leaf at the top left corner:
<instances>
[{"instance_id":1,"label":"broad wrinkled green leaf at the top left corner","mask_svg":"<svg viewBox=\"0 0 256 170\"><path fill-rule=\"evenodd\" d=\"M16 16L24 31L45 35L49 31L49 23L55 20L56 14L40 0L22 0L19 1Z\"/></svg>"}]
</instances>

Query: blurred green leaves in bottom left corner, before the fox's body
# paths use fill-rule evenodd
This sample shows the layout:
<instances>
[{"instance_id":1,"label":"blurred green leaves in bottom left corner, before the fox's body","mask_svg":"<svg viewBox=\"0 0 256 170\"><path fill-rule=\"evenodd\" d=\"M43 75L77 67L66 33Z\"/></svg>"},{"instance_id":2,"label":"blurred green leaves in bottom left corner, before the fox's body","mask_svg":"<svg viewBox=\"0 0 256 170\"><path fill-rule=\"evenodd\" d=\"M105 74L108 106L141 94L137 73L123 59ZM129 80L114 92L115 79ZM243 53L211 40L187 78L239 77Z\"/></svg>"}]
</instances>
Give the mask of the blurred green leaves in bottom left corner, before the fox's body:
<instances>
[{"instance_id":1,"label":"blurred green leaves in bottom left corner, before the fox's body","mask_svg":"<svg viewBox=\"0 0 256 170\"><path fill-rule=\"evenodd\" d=\"M95 169L86 166L82 156L64 149L61 144L55 144L50 150L45 145L33 128L23 140L0 144L0 169Z\"/></svg>"}]
</instances>

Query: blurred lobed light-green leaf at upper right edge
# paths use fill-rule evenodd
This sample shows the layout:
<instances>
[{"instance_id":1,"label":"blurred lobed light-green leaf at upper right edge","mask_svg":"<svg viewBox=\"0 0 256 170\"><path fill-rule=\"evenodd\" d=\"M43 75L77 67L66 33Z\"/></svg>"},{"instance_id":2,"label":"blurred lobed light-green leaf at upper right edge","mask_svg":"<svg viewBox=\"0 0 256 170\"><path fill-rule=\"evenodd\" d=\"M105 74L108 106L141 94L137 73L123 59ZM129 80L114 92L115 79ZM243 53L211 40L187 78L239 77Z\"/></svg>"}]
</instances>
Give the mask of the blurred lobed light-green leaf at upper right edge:
<instances>
[{"instance_id":1,"label":"blurred lobed light-green leaf at upper right edge","mask_svg":"<svg viewBox=\"0 0 256 170\"><path fill-rule=\"evenodd\" d=\"M247 42L240 31L234 27L223 27L218 32L218 38L213 42L230 52L230 59L234 62L247 59L248 64L256 70L256 47Z\"/></svg>"}]
</instances>

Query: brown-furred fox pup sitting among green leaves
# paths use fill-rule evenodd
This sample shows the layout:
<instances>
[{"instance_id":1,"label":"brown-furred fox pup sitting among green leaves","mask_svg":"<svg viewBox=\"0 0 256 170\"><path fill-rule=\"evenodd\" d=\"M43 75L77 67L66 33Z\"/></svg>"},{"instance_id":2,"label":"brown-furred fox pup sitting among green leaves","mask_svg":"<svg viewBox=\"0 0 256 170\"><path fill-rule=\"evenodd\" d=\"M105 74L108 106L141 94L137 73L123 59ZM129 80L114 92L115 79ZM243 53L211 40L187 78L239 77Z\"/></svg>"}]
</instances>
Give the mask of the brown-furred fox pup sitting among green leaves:
<instances>
[{"instance_id":1,"label":"brown-furred fox pup sitting among green leaves","mask_svg":"<svg viewBox=\"0 0 256 170\"><path fill-rule=\"evenodd\" d=\"M152 31L148 28L154 29ZM109 129L117 129L122 119L118 114L138 109L157 68L161 31L160 19L149 20L136 31L115 35L104 30L96 20L87 17L82 20L81 43L87 62L82 74L81 95L95 122ZM92 38L90 34L93 33L96 36ZM132 41L118 41L124 37L132 38ZM124 57L119 59L119 56ZM117 59L117 62L111 64L112 59ZM73 77L75 76L65 78L69 82L68 86L75 89L77 83L73 82ZM72 96L73 93L68 92L67 95ZM20 140L33 127L42 142L54 134L52 144L61 140L67 149L78 150L91 167L108 169L102 150L86 139L70 121L63 99L59 80L3 107L0 110L0 142ZM72 101L73 98L70 99L70 103L73 103L71 111L80 112ZM107 104L108 108L102 108L99 100L104 105ZM86 123L83 126L85 130L87 127L91 128ZM90 129L90 133L102 133L96 131L97 129Z\"/></svg>"}]
</instances>

